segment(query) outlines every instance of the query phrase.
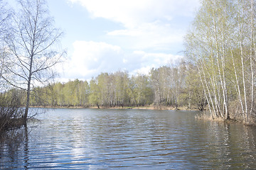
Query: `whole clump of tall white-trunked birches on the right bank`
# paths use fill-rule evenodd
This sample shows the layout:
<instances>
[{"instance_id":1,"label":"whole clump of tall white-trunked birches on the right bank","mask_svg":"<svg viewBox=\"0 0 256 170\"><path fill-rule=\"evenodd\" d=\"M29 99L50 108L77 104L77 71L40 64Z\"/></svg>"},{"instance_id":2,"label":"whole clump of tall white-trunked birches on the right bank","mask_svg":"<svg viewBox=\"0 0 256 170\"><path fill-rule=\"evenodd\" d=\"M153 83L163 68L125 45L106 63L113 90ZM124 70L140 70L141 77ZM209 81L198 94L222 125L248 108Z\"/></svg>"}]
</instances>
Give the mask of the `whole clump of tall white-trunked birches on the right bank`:
<instances>
[{"instance_id":1,"label":"whole clump of tall white-trunked birches on the right bank","mask_svg":"<svg viewBox=\"0 0 256 170\"><path fill-rule=\"evenodd\" d=\"M186 35L212 118L255 122L255 0L205 0Z\"/></svg>"}]
</instances>

